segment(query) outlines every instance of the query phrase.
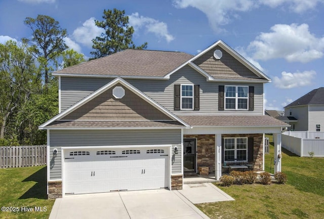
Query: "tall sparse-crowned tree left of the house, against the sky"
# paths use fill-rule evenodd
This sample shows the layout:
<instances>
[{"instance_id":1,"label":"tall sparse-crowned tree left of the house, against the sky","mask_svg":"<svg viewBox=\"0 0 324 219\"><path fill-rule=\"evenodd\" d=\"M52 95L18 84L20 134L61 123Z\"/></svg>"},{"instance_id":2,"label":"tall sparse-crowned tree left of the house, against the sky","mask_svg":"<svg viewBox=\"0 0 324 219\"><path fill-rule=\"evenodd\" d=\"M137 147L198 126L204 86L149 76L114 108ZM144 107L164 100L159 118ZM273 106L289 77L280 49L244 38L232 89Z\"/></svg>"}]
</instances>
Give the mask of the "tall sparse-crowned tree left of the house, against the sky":
<instances>
[{"instance_id":1,"label":"tall sparse-crowned tree left of the house, against the sky","mask_svg":"<svg viewBox=\"0 0 324 219\"><path fill-rule=\"evenodd\" d=\"M24 23L32 30L32 38L23 38L23 41L33 44L33 54L37 58L41 72L45 77L47 89L49 72L57 67L55 66L55 59L68 48L64 42L67 31L60 27L58 21L46 15L38 15L37 18L27 17Z\"/></svg>"}]
</instances>

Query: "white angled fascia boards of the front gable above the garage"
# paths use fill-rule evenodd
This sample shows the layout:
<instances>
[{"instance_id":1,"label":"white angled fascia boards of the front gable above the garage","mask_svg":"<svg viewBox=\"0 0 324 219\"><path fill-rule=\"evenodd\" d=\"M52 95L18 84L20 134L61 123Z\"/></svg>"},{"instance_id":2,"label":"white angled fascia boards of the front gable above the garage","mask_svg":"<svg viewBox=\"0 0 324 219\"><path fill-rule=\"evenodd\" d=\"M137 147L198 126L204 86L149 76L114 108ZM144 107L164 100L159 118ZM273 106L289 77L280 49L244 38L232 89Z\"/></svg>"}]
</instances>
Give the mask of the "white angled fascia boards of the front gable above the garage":
<instances>
[{"instance_id":1,"label":"white angled fascia boards of the front gable above the garage","mask_svg":"<svg viewBox=\"0 0 324 219\"><path fill-rule=\"evenodd\" d=\"M84 98L83 100L75 103L74 105L72 105L71 107L69 107L68 109L66 109L65 111L59 113L58 115L54 116L52 119L48 120L47 122L41 124L38 126L38 129L46 129L45 126L56 121L59 120L61 118L63 118L65 115L67 115L68 113L72 112L73 110L83 106L84 104L88 103L90 100L94 99L95 97L99 96L100 94L102 94L103 92L107 91L110 87L112 87L113 85L117 84L117 83L121 83L124 86L126 86L129 90L131 90L132 92L136 93L140 98L142 98L143 100L145 100L146 102L148 102L149 104L151 104L153 107L157 108L159 111L163 112L164 114L166 114L167 116L169 116L170 118L173 118L174 120L182 123L183 125L190 127L189 124L187 124L186 122L184 122L183 120L181 120L180 118L178 118L176 115L174 115L173 113L171 113L170 111L168 111L167 109L165 109L163 106L161 106L160 104L158 104L157 102L153 101L151 98L147 97L145 94L143 94L140 90L138 90L136 87L134 87L132 84L128 83L126 80L124 80L121 77L117 77L115 79L113 79L112 81L110 81L109 83L107 83L106 85L102 86L100 89L98 89L97 91L93 92L91 95L89 95L88 97Z\"/></svg>"}]
</instances>

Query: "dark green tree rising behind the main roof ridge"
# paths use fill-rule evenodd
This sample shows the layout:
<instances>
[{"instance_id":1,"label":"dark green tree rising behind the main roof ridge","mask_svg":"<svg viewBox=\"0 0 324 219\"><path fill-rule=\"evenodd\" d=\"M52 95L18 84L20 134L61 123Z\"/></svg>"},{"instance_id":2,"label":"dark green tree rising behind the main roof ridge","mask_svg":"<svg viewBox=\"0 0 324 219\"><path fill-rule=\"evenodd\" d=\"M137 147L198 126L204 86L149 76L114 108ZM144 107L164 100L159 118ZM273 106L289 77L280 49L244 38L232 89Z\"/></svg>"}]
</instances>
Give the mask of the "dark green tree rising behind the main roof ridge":
<instances>
[{"instance_id":1,"label":"dark green tree rising behind the main roof ridge","mask_svg":"<svg viewBox=\"0 0 324 219\"><path fill-rule=\"evenodd\" d=\"M147 48L147 42L139 47L134 45L132 41L134 28L129 26L129 17L125 15L125 10L104 10L102 18L103 21L95 21L96 26L105 30L100 36L92 40L92 48L95 51L90 54L94 55L95 59L126 49Z\"/></svg>"}]
</instances>

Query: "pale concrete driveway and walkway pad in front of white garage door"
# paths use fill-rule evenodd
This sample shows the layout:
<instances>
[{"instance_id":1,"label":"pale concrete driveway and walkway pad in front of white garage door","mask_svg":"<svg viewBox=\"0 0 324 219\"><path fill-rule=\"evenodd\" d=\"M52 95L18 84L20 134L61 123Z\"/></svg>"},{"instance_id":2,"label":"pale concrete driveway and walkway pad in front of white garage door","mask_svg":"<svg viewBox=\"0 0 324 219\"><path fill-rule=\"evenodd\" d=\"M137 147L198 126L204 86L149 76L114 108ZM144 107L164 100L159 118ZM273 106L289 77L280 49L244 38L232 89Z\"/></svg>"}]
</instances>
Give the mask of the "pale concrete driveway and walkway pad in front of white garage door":
<instances>
[{"instance_id":1,"label":"pale concrete driveway and walkway pad in front of white garage door","mask_svg":"<svg viewBox=\"0 0 324 219\"><path fill-rule=\"evenodd\" d=\"M210 189L211 193L209 193L209 198L208 200L206 199L206 202L210 202L212 196L220 195L219 191L214 188L211 189L210 186L202 186L201 188L205 190ZM199 186L186 187L183 191L189 192L190 190L195 193L195 195L192 195L191 201L179 191L164 189L66 196L65 198L56 199L50 219L209 218L193 204L195 202L194 199L198 202L204 201L199 198L204 196L204 194L199 196ZM224 195L221 194L221 196L223 197Z\"/></svg>"}]
</instances>

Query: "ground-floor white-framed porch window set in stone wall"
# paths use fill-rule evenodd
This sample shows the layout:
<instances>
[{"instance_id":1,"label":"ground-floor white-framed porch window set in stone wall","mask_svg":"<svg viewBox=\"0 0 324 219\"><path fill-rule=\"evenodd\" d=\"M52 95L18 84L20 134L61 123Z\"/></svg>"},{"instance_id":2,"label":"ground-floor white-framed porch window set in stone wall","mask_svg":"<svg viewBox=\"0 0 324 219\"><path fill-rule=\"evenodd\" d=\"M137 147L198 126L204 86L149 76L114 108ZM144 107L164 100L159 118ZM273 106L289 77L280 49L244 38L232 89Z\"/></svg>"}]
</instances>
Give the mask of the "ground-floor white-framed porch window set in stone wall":
<instances>
[{"instance_id":1,"label":"ground-floor white-framed porch window set in stone wall","mask_svg":"<svg viewBox=\"0 0 324 219\"><path fill-rule=\"evenodd\" d=\"M224 162L230 160L248 161L248 138L224 139Z\"/></svg>"}]
</instances>

